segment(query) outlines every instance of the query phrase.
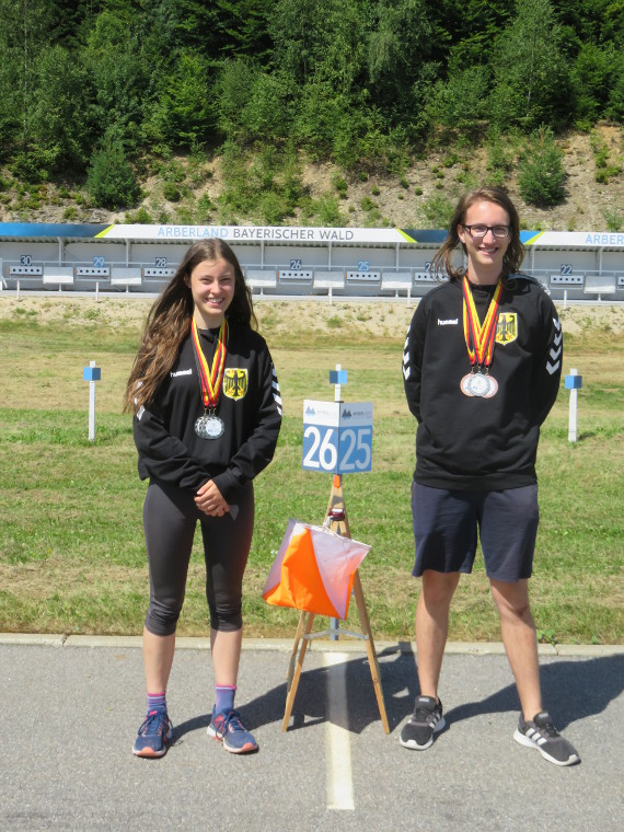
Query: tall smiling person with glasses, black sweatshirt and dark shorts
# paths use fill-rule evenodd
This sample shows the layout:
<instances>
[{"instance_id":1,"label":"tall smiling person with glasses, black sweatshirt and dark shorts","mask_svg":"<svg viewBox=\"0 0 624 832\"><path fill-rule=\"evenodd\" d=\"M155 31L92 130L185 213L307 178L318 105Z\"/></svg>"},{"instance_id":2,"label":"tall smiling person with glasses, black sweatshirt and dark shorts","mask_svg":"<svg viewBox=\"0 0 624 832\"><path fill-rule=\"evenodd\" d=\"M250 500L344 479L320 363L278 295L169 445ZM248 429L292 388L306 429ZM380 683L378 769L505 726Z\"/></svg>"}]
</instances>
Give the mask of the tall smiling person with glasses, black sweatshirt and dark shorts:
<instances>
[{"instance_id":1,"label":"tall smiling person with glasses, black sweatshirt and dark shorts","mask_svg":"<svg viewBox=\"0 0 624 832\"><path fill-rule=\"evenodd\" d=\"M570 765L578 753L542 704L528 592L538 441L559 388L563 335L548 294L520 271L523 255L507 194L495 187L465 194L432 262L443 281L419 302L407 334L403 377L417 420L412 512L413 575L421 579L420 693L401 744L427 749L444 727L438 683L449 609L460 576L472 570L478 536L520 700L513 738Z\"/></svg>"}]
</instances>

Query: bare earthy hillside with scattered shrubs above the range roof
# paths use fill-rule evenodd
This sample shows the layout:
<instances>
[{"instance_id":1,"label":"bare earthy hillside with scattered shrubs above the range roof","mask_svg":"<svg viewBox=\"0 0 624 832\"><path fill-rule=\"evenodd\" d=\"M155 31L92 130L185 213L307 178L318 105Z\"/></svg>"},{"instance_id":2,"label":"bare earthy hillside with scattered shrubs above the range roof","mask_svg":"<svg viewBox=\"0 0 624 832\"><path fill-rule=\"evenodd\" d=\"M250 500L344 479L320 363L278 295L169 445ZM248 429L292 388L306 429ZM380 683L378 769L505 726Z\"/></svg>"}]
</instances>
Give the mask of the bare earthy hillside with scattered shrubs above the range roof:
<instances>
[{"instance_id":1,"label":"bare earthy hillside with scattered shrubs above the range roof","mask_svg":"<svg viewBox=\"0 0 624 832\"><path fill-rule=\"evenodd\" d=\"M615 172L606 183L597 181L596 143L606 149ZM505 186L519 207L522 227L534 230L619 231L624 228L624 128L599 124L592 134L571 132L559 139L566 171L566 198L553 208L527 205L518 192L518 148L509 147L509 172ZM167 167L169 164L169 167ZM440 228L439 217L466 189L492 181L490 160L484 148L444 148L413 160L401 176L346 174L337 166L310 163L300 157L300 180L307 205L331 197L332 221L310 220L301 207L279 224L333 224L350 227ZM152 165L153 169L153 165ZM177 197L167 199L163 171L175 170ZM220 157L199 163L181 157L160 165L141 181L143 197L132 209L105 210L90 205L86 193L74 184L26 186L0 177L0 221L26 222L128 222L180 224L233 221L219 207L227 170ZM148 173L150 169L148 165ZM169 174L167 174L169 175ZM336 183L342 180L342 186ZM142 211L140 209L143 209ZM236 213L240 224L273 224L259 215Z\"/></svg>"}]
</instances>

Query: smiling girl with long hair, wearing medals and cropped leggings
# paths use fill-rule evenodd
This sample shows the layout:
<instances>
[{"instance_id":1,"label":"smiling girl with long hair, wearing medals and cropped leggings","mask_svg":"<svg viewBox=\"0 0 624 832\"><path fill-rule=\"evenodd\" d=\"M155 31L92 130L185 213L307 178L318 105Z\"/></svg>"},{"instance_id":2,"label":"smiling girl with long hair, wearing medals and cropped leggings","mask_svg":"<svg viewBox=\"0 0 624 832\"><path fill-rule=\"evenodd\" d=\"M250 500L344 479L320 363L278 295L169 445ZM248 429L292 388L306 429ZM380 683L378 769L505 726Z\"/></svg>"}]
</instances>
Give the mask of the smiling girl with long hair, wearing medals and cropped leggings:
<instances>
[{"instance_id":1,"label":"smiling girl with long hair, wearing medals and cropped leggings","mask_svg":"<svg viewBox=\"0 0 624 832\"><path fill-rule=\"evenodd\" d=\"M159 758L173 737L166 685L197 521L216 697L208 735L232 753L257 750L234 708L242 579L254 522L253 478L281 424L273 360L234 252L197 242L152 307L126 389L139 476L150 602L143 628L148 714L132 752Z\"/></svg>"}]
</instances>

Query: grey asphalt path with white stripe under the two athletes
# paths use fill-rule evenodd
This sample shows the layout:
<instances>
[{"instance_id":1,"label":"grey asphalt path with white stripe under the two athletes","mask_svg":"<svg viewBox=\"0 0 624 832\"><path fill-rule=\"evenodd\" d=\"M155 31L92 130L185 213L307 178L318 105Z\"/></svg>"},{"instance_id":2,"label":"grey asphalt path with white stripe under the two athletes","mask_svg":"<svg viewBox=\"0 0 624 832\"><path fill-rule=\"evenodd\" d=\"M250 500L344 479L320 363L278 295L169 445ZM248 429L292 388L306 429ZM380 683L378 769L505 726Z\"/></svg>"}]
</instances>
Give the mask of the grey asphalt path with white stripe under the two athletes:
<instances>
[{"instance_id":1,"label":"grey asphalt path with white stripe under the two athletes","mask_svg":"<svg viewBox=\"0 0 624 832\"><path fill-rule=\"evenodd\" d=\"M167 692L175 741L131 754L145 716L140 642L0 635L2 830L622 829L624 648L546 646L544 703L581 763L558 767L512 739L518 697L499 645L449 645L448 728L398 743L417 694L409 645L378 644L385 735L361 643L314 642L281 731L288 642L246 642L236 705L259 751L206 735L207 644L181 639Z\"/></svg>"}]
</instances>

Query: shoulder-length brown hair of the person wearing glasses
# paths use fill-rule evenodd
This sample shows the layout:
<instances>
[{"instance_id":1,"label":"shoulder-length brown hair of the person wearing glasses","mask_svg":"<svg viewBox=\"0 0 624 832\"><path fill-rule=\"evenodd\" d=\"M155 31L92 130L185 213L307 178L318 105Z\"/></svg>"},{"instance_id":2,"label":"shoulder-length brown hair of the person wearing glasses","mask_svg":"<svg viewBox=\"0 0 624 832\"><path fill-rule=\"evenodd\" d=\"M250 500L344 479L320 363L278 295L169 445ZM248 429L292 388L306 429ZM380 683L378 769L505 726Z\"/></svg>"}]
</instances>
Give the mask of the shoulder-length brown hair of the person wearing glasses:
<instances>
[{"instance_id":1,"label":"shoulder-length brown hair of the person wearing glasses","mask_svg":"<svg viewBox=\"0 0 624 832\"><path fill-rule=\"evenodd\" d=\"M461 197L451 219L447 239L431 261L431 273L436 277L449 277L451 280L458 280L465 274L463 267L453 266L452 256L454 250L461 243L458 227L463 226L467 209L475 203L495 203L504 208L509 217L509 234L511 240L502 258L501 274L502 282L506 284L509 275L520 270L520 266L524 259L524 246L520 242L520 218L518 217L516 206L505 190L489 185L470 190ZM465 245L461 243L461 246L465 254Z\"/></svg>"}]
</instances>

